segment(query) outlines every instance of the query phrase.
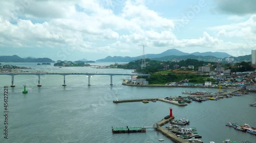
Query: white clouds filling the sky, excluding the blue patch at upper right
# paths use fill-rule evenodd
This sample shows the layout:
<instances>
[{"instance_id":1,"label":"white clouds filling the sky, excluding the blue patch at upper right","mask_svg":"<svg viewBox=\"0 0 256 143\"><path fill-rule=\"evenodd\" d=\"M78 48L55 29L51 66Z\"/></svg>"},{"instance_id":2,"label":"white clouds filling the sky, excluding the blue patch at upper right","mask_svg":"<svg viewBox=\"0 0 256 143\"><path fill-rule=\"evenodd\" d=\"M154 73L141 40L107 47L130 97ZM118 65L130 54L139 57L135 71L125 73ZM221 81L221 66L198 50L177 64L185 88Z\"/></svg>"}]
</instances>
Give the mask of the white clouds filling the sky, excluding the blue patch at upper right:
<instances>
[{"instance_id":1,"label":"white clouds filling the sky, excluding the blue patch at upper right","mask_svg":"<svg viewBox=\"0 0 256 143\"><path fill-rule=\"evenodd\" d=\"M148 49L214 51L244 47L244 43L224 41L222 37L255 39L256 34L255 15L244 22L211 27L216 37L204 32L199 38L178 39L173 33L177 19L163 17L146 7L144 1L122 1L119 13L111 9L116 1L109 0L103 3L96 0L24 2L0 2L0 47L72 48L81 53L116 55L141 51L142 45ZM17 11L22 7L24 9ZM242 18L230 16L228 19Z\"/></svg>"}]
</instances>

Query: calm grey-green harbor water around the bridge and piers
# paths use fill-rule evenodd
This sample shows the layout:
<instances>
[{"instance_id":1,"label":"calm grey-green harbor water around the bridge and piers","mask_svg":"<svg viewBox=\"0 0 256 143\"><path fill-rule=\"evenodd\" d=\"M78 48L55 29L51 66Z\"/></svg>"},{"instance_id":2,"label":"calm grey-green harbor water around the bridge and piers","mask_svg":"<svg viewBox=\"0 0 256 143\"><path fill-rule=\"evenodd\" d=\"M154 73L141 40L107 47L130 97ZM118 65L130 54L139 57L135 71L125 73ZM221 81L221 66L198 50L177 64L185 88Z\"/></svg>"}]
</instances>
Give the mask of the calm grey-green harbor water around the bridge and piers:
<instances>
[{"instance_id":1,"label":"calm grey-green harbor water around the bridge and piers","mask_svg":"<svg viewBox=\"0 0 256 143\"><path fill-rule=\"evenodd\" d=\"M132 73L124 69L95 69L91 67L53 67L37 63L2 63L2 65L31 67L33 70L53 73ZM113 63L94 63L110 65ZM169 114L173 108L176 119L189 119L186 127L196 127L204 142L222 142L229 138L241 142L256 142L256 136L225 126L228 122L250 124L256 127L256 93L224 98L217 101L192 102L177 106L161 101L144 104L129 102L115 104L124 99L163 98L187 96L182 91L217 92L207 88L151 88L122 85L122 80L131 77L93 75L88 86L86 75L67 75L66 87L62 87L63 76L41 75L41 87L37 87L38 76L15 75L11 88L11 76L0 75L0 142L173 142L154 129L145 133L113 134L113 127L153 126ZM171 81L170 81L171 82ZM26 84L28 94L23 94ZM4 138L4 86L8 86L8 139ZM225 89L226 90L226 89ZM228 91L230 91L228 89Z\"/></svg>"}]
</instances>

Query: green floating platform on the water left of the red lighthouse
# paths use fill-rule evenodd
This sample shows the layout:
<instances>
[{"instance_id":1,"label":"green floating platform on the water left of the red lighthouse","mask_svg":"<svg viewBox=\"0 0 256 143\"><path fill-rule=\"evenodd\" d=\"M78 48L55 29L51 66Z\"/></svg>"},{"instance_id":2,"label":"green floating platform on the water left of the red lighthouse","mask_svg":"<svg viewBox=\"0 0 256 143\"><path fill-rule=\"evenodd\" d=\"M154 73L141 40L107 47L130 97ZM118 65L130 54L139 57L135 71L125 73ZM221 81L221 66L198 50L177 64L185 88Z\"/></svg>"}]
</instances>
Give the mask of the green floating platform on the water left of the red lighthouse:
<instances>
[{"instance_id":1,"label":"green floating platform on the water left of the red lighthouse","mask_svg":"<svg viewBox=\"0 0 256 143\"><path fill-rule=\"evenodd\" d=\"M112 133L134 133L134 132L146 132L144 127L112 127Z\"/></svg>"}]
</instances>

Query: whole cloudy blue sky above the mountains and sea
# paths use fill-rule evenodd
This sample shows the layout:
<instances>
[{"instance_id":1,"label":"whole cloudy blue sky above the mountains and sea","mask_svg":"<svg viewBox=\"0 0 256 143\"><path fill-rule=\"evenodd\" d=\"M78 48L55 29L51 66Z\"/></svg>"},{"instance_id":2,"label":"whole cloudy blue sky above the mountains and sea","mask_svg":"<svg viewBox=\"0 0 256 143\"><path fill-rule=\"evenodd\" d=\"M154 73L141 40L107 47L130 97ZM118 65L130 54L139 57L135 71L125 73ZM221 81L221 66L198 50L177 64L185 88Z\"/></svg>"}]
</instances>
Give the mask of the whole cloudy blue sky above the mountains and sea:
<instances>
[{"instance_id":1,"label":"whole cloudy blue sky above the mountains and sea","mask_svg":"<svg viewBox=\"0 0 256 143\"><path fill-rule=\"evenodd\" d=\"M76 61L256 49L254 0L0 1L0 55Z\"/></svg>"}]
</instances>

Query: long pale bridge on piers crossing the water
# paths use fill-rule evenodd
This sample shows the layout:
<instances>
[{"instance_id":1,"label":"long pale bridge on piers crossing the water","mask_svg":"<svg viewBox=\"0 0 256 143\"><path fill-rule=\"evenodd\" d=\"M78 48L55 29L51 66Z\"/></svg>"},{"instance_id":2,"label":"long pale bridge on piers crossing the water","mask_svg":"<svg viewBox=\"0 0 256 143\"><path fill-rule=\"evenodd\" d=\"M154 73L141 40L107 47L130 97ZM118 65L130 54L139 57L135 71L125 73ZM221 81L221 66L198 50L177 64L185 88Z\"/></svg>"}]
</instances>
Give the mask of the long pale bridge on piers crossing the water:
<instances>
[{"instance_id":1,"label":"long pale bridge on piers crossing the water","mask_svg":"<svg viewBox=\"0 0 256 143\"><path fill-rule=\"evenodd\" d=\"M66 75L86 75L88 76L88 85L90 84L90 78L92 75L109 75L110 76L110 85L113 85L113 76L117 75L122 75L122 76L131 76L131 81L133 81L133 76L150 76L150 74L120 74L120 73L48 73L48 72L29 72L29 73L24 73L24 72L15 72L15 73L0 73L0 75L10 75L12 76L12 84L11 87L15 87L14 84L14 75L37 75L38 76L38 84L37 87L41 87L40 84L40 76L41 75L63 75L63 84L62 86L66 86Z\"/></svg>"}]
</instances>

